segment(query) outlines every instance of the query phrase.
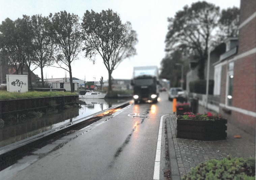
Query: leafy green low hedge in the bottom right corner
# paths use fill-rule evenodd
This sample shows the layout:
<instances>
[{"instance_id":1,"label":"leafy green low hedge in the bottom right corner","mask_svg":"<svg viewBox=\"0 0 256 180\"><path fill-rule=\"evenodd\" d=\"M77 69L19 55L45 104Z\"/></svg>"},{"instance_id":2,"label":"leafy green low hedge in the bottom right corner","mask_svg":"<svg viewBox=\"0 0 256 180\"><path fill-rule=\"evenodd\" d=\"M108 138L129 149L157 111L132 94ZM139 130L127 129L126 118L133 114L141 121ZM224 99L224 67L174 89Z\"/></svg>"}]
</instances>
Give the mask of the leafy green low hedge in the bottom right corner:
<instances>
[{"instance_id":1,"label":"leafy green low hedge in the bottom right corner","mask_svg":"<svg viewBox=\"0 0 256 180\"><path fill-rule=\"evenodd\" d=\"M200 163L181 177L182 180L237 179L255 180L255 157L233 158L228 155L222 160L208 160Z\"/></svg>"}]
</instances>

